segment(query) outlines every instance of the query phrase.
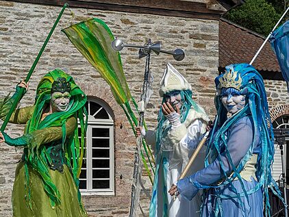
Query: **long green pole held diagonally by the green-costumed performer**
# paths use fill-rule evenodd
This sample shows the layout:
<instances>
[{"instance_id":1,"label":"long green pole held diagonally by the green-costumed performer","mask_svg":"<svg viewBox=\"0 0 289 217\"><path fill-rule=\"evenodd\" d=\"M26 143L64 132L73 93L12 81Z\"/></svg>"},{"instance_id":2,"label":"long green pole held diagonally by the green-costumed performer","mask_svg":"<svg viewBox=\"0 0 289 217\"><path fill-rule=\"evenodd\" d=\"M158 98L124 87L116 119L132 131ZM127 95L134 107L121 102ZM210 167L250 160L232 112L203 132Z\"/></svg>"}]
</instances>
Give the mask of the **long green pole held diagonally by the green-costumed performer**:
<instances>
[{"instance_id":1,"label":"long green pole held diagonally by the green-costumed performer","mask_svg":"<svg viewBox=\"0 0 289 217\"><path fill-rule=\"evenodd\" d=\"M33 65L31 66L27 77L26 77L25 80L24 80L26 83L29 81L29 79L30 79L30 77L31 77L31 75L32 75L32 73L33 73L33 71L34 71L34 68L36 67L36 64L38 63L38 61L39 61L39 59L40 59L40 57L41 57L41 55L42 55L42 53L43 53L43 51L44 51L47 43L48 43L51 35L53 34L53 31L54 31L56 25L58 25L58 22L60 21L60 18L61 18L62 14L63 14L63 12L64 12L64 10L65 10L65 8L66 8L67 6L68 6L68 3L65 3L65 4L63 5L62 10L61 10L60 14L58 15L58 18L56 19L56 21L55 21L52 29L50 30L50 32L49 32L49 34L48 34L48 36L47 36L44 44L42 45L42 47L41 47L41 49L40 49L40 51L39 51L39 53L38 53L38 55L37 55L37 57L36 57L36 60L34 60L34 63L33 63ZM7 114L7 116L6 116L3 124L2 124L2 126L1 126L0 131L4 131L5 127L7 126L8 121L9 121L10 117L12 116L12 113L14 112L16 106L18 105L19 101L21 100L21 97L23 96L24 90L25 90L25 88L20 88L20 91L19 91L19 93L18 93L18 95L17 95L14 103L12 104L12 107L10 108L10 110L9 110L9 112L8 112L8 114Z\"/></svg>"}]
</instances>

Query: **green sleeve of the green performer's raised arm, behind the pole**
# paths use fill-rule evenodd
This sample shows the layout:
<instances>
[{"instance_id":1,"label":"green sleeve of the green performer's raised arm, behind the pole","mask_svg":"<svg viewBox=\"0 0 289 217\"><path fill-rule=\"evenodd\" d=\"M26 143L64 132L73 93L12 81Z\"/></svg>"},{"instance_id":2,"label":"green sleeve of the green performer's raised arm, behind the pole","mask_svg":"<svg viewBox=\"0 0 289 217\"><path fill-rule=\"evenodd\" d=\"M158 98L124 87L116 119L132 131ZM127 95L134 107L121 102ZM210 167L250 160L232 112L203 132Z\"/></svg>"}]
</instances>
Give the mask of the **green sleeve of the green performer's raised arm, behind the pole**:
<instances>
[{"instance_id":1,"label":"green sleeve of the green performer's raised arm, behind the pole","mask_svg":"<svg viewBox=\"0 0 289 217\"><path fill-rule=\"evenodd\" d=\"M12 107L14 100L16 99L18 91L19 91L19 88L17 86L16 92L13 94L12 97L6 97L5 99L0 101L0 118L1 118L1 120L4 120L6 118L6 115L8 114L10 108ZM31 118L33 112L34 112L34 106L28 106L28 107L16 109L12 113L12 116L10 117L9 122L15 123L15 124L25 124L25 123L27 123L29 118Z\"/></svg>"}]
</instances>

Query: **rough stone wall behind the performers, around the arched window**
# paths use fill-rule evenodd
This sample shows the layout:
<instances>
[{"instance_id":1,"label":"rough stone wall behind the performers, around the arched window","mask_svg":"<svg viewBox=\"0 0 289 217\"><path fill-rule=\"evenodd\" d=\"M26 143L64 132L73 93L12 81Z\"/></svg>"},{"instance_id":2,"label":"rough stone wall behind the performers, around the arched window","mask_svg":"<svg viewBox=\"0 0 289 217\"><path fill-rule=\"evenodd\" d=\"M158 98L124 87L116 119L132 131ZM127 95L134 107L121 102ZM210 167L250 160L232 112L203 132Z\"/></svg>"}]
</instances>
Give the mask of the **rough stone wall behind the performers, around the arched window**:
<instances>
[{"instance_id":1,"label":"rough stone wall behind the performers, around the arched window","mask_svg":"<svg viewBox=\"0 0 289 217\"><path fill-rule=\"evenodd\" d=\"M14 92L14 87L24 79L32 66L61 8L0 1L0 96ZM154 75L154 94L145 114L150 129L156 125L160 108L158 84L167 62L188 79L194 90L194 99L205 111L214 116L214 77L218 74L218 21L193 18L176 18L149 14L72 9L74 23L91 17L102 18L113 34L131 44L145 44L147 38L162 42L167 50L182 48L186 58L176 62L169 55L152 55L151 71ZM31 105L42 75L54 68L62 68L75 77L86 94L106 101L115 116L115 196L83 196L90 216L128 216L131 195L131 174L134 162L135 139L125 115L112 98L109 87L83 56L73 47L60 29L70 24L70 11L66 10L43 53L32 78L30 90L21 106ZM137 49L121 51L123 68L131 94L139 99L145 59L138 59ZM121 129L121 125L123 125ZM23 127L8 125L12 137L21 136ZM21 159L21 149L0 145L0 216L12 216L11 193L16 163ZM123 179L120 179L121 175ZM150 189L145 177L146 188ZM147 214L149 198L142 192L141 207Z\"/></svg>"}]
</instances>

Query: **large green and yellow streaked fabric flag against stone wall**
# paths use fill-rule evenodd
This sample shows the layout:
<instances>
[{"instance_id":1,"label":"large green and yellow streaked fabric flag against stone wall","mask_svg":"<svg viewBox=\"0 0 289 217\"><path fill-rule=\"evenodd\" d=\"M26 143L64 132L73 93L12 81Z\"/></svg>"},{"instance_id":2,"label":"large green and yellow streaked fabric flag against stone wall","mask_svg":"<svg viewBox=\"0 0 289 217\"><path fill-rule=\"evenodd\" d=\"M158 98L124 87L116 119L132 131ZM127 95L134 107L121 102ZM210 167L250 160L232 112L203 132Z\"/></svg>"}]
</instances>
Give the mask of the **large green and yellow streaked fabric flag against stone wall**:
<instances>
[{"instance_id":1,"label":"large green and yellow streaked fabric flag against stone wall","mask_svg":"<svg viewBox=\"0 0 289 217\"><path fill-rule=\"evenodd\" d=\"M108 82L117 103L124 104L129 101L131 94L123 73L121 55L112 50L110 44L114 36L108 26L100 19L92 18L62 31Z\"/></svg>"}]
</instances>

